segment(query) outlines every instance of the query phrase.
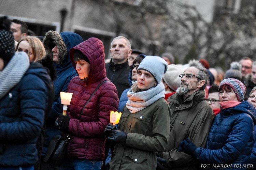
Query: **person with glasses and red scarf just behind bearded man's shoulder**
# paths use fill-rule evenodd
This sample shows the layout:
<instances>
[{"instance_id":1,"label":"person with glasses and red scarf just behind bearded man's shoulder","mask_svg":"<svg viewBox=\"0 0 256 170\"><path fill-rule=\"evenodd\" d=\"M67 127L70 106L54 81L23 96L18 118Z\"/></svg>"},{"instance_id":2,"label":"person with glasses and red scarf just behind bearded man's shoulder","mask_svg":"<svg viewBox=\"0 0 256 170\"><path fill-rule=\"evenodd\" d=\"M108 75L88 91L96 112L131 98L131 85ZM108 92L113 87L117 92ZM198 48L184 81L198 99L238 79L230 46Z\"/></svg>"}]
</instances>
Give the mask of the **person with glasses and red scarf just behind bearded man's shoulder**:
<instances>
[{"instance_id":1,"label":"person with glasses and red scarf just behind bearded man's shoulder","mask_svg":"<svg viewBox=\"0 0 256 170\"><path fill-rule=\"evenodd\" d=\"M219 104L219 93L218 86L213 85L208 90L208 98L205 99L208 104L211 106L214 115L216 116L219 112L221 112L221 104Z\"/></svg>"}]
</instances>

